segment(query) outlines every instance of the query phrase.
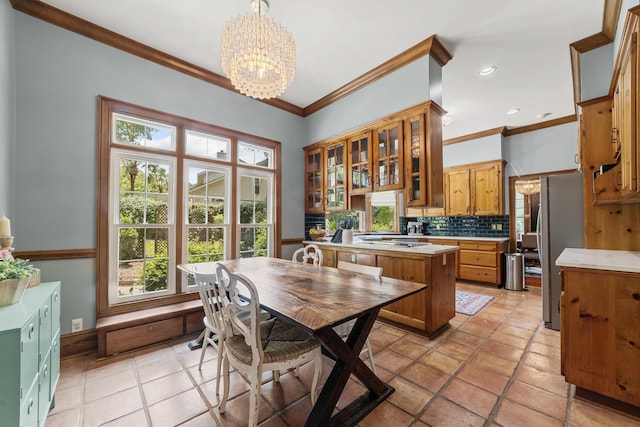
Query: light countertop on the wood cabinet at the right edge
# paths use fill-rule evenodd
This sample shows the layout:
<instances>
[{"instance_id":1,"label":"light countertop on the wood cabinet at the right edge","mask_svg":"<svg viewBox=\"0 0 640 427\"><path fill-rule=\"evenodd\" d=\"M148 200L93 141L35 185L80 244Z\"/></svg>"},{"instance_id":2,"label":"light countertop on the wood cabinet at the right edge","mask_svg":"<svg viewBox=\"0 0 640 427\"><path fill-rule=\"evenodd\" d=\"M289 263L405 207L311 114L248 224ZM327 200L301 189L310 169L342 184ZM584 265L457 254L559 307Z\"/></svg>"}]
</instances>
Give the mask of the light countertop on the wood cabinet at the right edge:
<instances>
[{"instance_id":1,"label":"light countertop on the wood cabinet at the right edge","mask_svg":"<svg viewBox=\"0 0 640 427\"><path fill-rule=\"evenodd\" d=\"M640 251L566 248L556 260L556 265L640 273Z\"/></svg>"}]
</instances>

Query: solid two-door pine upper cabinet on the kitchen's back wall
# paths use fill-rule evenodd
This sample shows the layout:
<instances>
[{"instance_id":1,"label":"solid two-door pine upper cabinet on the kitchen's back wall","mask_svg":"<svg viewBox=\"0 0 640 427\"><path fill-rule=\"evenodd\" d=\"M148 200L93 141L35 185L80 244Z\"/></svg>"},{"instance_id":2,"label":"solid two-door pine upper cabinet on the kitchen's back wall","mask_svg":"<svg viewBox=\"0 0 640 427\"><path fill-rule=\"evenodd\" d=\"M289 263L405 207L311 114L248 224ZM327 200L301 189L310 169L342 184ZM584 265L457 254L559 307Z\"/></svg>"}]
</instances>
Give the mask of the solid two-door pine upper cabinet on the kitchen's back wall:
<instances>
[{"instance_id":1,"label":"solid two-door pine upper cabinet on the kitchen's back wall","mask_svg":"<svg viewBox=\"0 0 640 427\"><path fill-rule=\"evenodd\" d=\"M449 216L503 215L504 160L445 170L445 213Z\"/></svg>"}]
</instances>

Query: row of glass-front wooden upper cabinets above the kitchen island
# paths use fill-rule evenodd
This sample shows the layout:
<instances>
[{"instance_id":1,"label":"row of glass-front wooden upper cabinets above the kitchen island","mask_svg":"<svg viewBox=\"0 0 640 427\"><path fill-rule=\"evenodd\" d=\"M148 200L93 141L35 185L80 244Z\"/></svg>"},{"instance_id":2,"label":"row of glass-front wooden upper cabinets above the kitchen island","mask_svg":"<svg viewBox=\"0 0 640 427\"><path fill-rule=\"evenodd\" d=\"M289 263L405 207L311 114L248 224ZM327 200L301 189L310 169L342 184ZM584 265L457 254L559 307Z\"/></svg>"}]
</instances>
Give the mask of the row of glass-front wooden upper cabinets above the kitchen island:
<instances>
[{"instance_id":1,"label":"row of glass-front wooden upper cabinets above the kitchen island","mask_svg":"<svg viewBox=\"0 0 640 427\"><path fill-rule=\"evenodd\" d=\"M412 208L443 206L442 110L432 101L305 148L305 211L352 208L404 189Z\"/></svg>"}]
</instances>

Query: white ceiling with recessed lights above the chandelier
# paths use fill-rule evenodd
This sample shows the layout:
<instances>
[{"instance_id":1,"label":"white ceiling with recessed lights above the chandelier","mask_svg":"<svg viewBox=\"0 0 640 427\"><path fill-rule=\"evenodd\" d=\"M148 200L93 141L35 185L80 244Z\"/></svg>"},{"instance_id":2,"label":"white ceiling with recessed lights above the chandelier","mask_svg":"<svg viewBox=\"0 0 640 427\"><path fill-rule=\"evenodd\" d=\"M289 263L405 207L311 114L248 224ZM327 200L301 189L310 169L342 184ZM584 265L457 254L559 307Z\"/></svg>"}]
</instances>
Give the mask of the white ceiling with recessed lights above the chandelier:
<instances>
[{"instance_id":1,"label":"white ceiling with recessed lights above the chandelier","mask_svg":"<svg viewBox=\"0 0 640 427\"><path fill-rule=\"evenodd\" d=\"M54 7L223 74L220 34L249 0L45 0ZM444 139L574 114L569 44L602 31L604 0L271 0L293 34L297 70L281 96L306 107L436 35ZM498 67L490 77L478 70ZM515 115L506 115L519 108ZM539 118L549 113L546 118Z\"/></svg>"}]
</instances>

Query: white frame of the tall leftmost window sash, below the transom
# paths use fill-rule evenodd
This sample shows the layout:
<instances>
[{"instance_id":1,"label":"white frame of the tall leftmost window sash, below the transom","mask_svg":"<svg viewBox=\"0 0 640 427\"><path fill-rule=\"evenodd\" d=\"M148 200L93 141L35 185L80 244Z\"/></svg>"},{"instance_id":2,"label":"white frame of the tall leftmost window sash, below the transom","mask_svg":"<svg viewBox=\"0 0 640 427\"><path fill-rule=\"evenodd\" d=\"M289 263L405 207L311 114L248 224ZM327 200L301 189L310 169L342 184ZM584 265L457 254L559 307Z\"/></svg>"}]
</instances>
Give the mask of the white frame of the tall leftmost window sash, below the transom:
<instances>
[{"instance_id":1,"label":"white frame of the tall leftmost window sash, below the transom","mask_svg":"<svg viewBox=\"0 0 640 427\"><path fill-rule=\"evenodd\" d=\"M118 296L118 245L119 230L123 225L130 226L131 224L120 223L120 161L121 159L134 159L142 162L162 162L169 165L169 176L173 177L169 180L168 188L168 212L167 212L167 224L158 224L163 228L169 229L169 244L168 244L168 261L167 261L167 289L163 291L155 291L153 293L144 293L139 295L131 295L127 297ZM174 156L167 156L163 154L155 153L139 153L133 150L127 150L125 148L112 148L111 149L111 164L110 164L110 185L109 185L109 304L119 305L131 301L149 300L154 297L161 297L166 295L172 295L175 293L176 283L175 274L176 271L176 224L175 224L175 206L176 206L176 172L177 172L177 159ZM153 227L150 227L153 228Z\"/></svg>"}]
</instances>

